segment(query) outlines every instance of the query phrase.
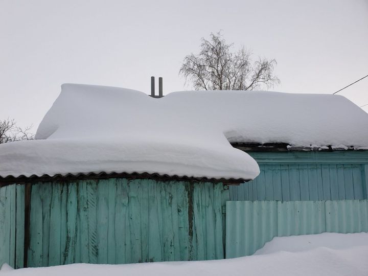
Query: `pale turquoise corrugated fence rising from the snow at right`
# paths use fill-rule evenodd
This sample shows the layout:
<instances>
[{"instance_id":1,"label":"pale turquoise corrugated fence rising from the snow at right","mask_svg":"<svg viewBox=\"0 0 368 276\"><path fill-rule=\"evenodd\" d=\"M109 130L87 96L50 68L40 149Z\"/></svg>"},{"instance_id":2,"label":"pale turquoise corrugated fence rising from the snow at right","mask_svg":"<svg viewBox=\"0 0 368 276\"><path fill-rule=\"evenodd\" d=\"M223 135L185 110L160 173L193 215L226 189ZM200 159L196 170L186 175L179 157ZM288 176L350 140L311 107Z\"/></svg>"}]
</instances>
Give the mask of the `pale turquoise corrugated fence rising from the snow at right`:
<instances>
[{"instance_id":1,"label":"pale turquoise corrugated fence rising from the snow at right","mask_svg":"<svg viewBox=\"0 0 368 276\"><path fill-rule=\"evenodd\" d=\"M252 255L273 237L323 232L368 232L368 200L226 202L226 258Z\"/></svg>"}]
</instances>

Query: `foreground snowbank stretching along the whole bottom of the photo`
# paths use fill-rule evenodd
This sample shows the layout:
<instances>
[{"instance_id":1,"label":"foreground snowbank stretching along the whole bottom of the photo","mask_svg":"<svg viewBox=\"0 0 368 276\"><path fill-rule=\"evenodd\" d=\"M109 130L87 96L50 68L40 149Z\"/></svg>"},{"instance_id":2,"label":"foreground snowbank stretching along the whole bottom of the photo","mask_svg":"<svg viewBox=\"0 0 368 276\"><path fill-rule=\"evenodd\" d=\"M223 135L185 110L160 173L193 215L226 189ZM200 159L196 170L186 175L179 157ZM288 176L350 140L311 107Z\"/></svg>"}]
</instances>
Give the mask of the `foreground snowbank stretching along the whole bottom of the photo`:
<instances>
[{"instance_id":1,"label":"foreground snowbank stretching along the whole bottom of the photo","mask_svg":"<svg viewBox=\"0 0 368 276\"><path fill-rule=\"evenodd\" d=\"M224 275L367 275L368 246L344 250L316 248L228 260L164 262L127 265L73 264L1 271L4 276L224 276Z\"/></svg>"}]
</instances>

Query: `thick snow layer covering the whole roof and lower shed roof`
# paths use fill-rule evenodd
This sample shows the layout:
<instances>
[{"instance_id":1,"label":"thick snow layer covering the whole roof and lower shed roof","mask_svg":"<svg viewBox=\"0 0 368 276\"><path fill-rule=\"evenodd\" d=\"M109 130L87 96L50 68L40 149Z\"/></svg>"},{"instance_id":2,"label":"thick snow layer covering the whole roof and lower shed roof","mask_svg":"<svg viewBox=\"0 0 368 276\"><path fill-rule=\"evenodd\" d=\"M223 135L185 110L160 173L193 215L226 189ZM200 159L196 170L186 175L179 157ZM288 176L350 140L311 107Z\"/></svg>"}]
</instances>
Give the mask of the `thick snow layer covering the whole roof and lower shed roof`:
<instances>
[{"instance_id":1,"label":"thick snow layer covering the whole roof and lower shed roof","mask_svg":"<svg viewBox=\"0 0 368 276\"><path fill-rule=\"evenodd\" d=\"M344 97L265 91L135 90L63 84L35 141L0 145L0 176L148 173L253 179L229 143L368 147L368 114Z\"/></svg>"}]
</instances>

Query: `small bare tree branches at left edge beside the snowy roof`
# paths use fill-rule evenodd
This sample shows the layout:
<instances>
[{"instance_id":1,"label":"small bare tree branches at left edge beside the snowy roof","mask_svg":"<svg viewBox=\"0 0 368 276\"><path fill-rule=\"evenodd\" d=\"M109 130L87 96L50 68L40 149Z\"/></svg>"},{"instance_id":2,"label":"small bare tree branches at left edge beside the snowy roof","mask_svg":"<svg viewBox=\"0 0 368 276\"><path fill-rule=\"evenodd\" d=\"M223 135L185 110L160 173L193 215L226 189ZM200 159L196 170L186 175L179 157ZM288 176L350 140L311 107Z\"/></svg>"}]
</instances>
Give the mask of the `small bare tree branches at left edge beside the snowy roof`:
<instances>
[{"instance_id":1,"label":"small bare tree branches at left edge beside the snowy roof","mask_svg":"<svg viewBox=\"0 0 368 276\"><path fill-rule=\"evenodd\" d=\"M33 140L34 134L31 133L32 125L26 128L20 128L16 126L14 119L0 120L0 144Z\"/></svg>"}]
</instances>

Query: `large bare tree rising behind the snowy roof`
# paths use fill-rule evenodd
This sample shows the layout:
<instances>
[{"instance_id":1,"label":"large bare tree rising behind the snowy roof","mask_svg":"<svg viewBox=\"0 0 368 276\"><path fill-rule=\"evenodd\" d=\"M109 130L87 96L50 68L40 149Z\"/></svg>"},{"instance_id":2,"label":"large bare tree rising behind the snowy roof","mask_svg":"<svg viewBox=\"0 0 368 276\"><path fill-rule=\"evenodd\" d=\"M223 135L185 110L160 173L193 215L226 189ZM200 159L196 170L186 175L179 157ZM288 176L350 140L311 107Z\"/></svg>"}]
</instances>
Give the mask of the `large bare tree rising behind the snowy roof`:
<instances>
[{"instance_id":1,"label":"large bare tree rising behind the snowy roof","mask_svg":"<svg viewBox=\"0 0 368 276\"><path fill-rule=\"evenodd\" d=\"M251 60L251 53L242 47L231 52L233 43L227 44L220 32L211 33L211 39L202 38L198 55L186 56L179 74L190 80L197 90L253 90L279 84L273 75L275 59Z\"/></svg>"}]
</instances>

